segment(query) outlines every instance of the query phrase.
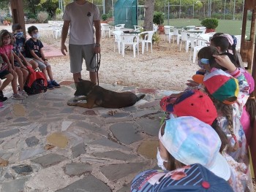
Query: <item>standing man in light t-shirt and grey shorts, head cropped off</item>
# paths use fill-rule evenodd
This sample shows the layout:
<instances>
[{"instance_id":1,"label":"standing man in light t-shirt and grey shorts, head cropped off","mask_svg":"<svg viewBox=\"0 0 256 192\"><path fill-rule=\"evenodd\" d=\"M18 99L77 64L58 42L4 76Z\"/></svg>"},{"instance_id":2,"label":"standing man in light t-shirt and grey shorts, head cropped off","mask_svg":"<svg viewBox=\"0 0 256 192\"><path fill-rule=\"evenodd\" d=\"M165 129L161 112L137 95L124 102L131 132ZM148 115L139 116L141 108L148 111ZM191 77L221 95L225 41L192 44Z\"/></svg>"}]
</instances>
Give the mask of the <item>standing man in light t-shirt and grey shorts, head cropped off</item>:
<instances>
[{"instance_id":1,"label":"standing man in light t-shirt and grey shorts, head cropped off","mask_svg":"<svg viewBox=\"0 0 256 192\"><path fill-rule=\"evenodd\" d=\"M65 7L63 20L61 53L64 55L67 53L65 41L69 31L70 72L73 74L75 84L79 81L78 78L81 78L83 59L86 61L86 70L90 73L91 82L97 82L94 54L100 53L101 31L98 7L86 0L73 1Z\"/></svg>"}]
</instances>

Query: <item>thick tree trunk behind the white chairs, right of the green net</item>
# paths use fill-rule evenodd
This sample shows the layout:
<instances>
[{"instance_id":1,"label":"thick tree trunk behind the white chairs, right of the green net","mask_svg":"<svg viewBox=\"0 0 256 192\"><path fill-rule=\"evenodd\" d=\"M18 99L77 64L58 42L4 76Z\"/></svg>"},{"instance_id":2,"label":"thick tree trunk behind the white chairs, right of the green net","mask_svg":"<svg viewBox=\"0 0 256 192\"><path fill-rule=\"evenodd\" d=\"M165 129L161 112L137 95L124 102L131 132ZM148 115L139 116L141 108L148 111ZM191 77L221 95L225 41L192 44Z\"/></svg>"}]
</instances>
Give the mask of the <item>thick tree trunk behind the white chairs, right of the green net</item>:
<instances>
[{"instance_id":1,"label":"thick tree trunk behind the white chairs, right of the green net","mask_svg":"<svg viewBox=\"0 0 256 192\"><path fill-rule=\"evenodd\" d=\"M153 30L154 0L145 0L144 31Z\"/></svg>"}]
</instances>

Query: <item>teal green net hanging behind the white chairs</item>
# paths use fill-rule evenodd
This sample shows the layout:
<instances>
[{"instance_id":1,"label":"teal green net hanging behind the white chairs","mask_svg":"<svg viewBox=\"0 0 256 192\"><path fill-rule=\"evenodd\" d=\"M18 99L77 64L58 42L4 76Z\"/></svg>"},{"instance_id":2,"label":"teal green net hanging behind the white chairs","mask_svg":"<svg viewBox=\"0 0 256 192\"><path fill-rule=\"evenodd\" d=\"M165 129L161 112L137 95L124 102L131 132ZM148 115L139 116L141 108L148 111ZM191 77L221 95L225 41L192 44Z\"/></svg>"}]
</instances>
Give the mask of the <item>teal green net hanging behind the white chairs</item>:
<instances>
[{"instance_id":1,"label":"teal green net hanging behind the white chairs","mask_svg":"<svg viewBox=\"0 0 256 192\"><path fill-rule=\"evenodd\" d=\"M138 26L137 0L118 0L114 7L115 25L125 24L125 28Z\"/></svg>"}]
</instances>

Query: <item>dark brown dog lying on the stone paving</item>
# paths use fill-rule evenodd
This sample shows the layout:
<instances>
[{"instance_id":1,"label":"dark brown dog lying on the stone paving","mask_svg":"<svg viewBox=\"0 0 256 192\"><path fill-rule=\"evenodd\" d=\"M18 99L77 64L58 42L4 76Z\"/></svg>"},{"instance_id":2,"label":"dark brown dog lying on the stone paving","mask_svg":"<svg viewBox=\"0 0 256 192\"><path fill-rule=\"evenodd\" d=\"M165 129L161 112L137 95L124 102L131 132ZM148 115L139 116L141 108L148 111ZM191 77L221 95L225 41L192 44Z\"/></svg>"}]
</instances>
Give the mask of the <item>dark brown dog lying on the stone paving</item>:
<instances>
[{"instance_id":1,"label":"dark brown dog lying on the stone paving","mask_svg":"<svg viewBox=\"0 0 256 192\"><path fill-rule=\"evenodd\" d=\"M136 96L130 91L117 93L99 87L96 83L79 79L75 96L83 96L78 100L86 100L87 102L68 102L68 105L79 106L85 108L105 107L105 108L121 108L134 105L140 99L143 99L145 94Z\"/></svg>"}]
</instances>

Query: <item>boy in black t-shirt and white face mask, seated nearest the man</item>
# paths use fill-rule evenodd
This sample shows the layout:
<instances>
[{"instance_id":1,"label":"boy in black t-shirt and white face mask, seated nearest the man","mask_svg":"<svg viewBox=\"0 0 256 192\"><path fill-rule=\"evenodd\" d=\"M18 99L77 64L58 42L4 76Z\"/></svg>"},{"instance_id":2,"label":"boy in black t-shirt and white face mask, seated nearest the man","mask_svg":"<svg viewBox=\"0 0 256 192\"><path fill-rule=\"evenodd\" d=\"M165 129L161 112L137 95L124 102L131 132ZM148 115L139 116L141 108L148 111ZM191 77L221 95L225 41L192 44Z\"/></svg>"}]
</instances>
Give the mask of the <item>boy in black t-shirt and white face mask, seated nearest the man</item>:
<instances>
[{"instance_id":1,"label":"boy in black t-shirt and white face mask, seated nearest the man","mask_svg":"<svg viewBox=\"0 0 256 192\"><path fill-rule=\"evenodd\" d=\"M37 62L39 69L45 74L48 80L48 89L60 88L58 82L53 79L53 72L47 58L42 50L42 42L38 39L39 32L36 26L30 26L28 33L31 36L25 43L26 56Z\"/></svg>"}]
</instances>

